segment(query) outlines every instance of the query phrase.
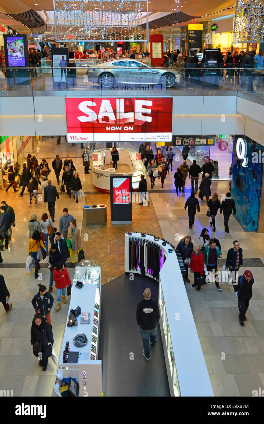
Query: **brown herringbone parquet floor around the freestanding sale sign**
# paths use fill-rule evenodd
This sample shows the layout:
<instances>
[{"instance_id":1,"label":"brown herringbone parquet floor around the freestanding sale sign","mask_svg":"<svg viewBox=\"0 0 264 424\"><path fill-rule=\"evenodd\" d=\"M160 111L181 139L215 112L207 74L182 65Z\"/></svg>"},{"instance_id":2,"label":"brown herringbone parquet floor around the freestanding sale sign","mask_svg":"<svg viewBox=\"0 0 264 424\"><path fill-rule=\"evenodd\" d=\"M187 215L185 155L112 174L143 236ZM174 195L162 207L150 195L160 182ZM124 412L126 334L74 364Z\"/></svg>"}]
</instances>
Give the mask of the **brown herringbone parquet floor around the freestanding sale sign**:
<instances>
[{"instance_id":1,"label":"brown herringbone parquet floor around the freestanding sale sign","mask_svg":"<svg viewBox=\"0 0 264 424\"><path fill-rule=\"evenodd\" d=\"M156 217L151 198L149 196L149 206L132 204L132 224L111 225L110 216L110 195L104 193L94 193L86 195L85 204L106 204L107 205L107 225L105 226L82 226L82 240L88 234L88 241L83 242L83 250L86 259L93 259L100 263L102 285L108 279L118 277L124 272L125 254L124 239L125 232L146 232L163 237ZM110 252L108 253L108 245Z\"/></svg>"}]
</instances>

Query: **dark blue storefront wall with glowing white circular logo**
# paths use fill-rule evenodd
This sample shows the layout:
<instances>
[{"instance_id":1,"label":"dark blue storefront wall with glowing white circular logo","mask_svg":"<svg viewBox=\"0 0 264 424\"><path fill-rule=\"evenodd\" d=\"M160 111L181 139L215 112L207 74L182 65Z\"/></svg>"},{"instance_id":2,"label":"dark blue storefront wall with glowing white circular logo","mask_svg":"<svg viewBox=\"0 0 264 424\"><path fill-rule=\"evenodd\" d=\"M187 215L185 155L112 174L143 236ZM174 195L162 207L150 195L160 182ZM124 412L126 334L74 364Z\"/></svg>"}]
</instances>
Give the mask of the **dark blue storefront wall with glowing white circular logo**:
<instances>
[{"instance_id":1,"label":"dark blue storefront wall with glowing white circular logo","mask_svg":"<svg viewBox=\"0 0 264 424\"><path fill-rule=\"evenodd\" d=\"M237 139L241 137L247 145L247 165L242 166L243 159L239 159L236 152ZM256 159L256 153L258 159ZM235 137L232 162L231 196L236 202L236 219L245 231L257 231L258 213L261 195L263 163L261 153L263 146L242 135ZM252 155L252 153L254 153ZM239 155L240 156L240 155Z\"/></svg>"}]
</instances>

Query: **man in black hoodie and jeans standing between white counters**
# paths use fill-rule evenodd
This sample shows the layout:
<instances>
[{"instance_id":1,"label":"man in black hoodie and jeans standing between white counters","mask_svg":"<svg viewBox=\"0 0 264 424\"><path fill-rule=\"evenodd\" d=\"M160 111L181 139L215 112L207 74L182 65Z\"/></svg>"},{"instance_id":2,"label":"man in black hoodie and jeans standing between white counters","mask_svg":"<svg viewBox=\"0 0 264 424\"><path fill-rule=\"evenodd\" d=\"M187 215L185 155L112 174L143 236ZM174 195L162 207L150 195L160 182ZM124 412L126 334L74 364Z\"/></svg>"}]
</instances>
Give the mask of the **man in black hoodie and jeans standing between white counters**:
<instances>
[{"instance_id":1,"label":"man in black hoodie and jeans standing between white counters","mask_svg":"<svg viewBox=\"0 0 264 424\"><path fill-rule=\"evenodd\" d=\"M157 302L150 299L150 289L145 289L143 296L144 299L136 307L136 322L143 340L143 355L149 360L150 344L153 345L158 338L156 331L159 321L159 308Z\"/></svg>"}]
</instances>

